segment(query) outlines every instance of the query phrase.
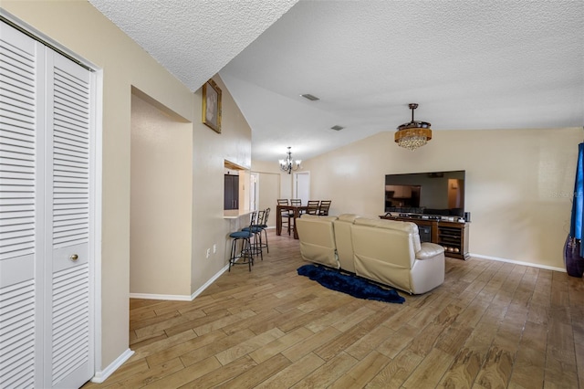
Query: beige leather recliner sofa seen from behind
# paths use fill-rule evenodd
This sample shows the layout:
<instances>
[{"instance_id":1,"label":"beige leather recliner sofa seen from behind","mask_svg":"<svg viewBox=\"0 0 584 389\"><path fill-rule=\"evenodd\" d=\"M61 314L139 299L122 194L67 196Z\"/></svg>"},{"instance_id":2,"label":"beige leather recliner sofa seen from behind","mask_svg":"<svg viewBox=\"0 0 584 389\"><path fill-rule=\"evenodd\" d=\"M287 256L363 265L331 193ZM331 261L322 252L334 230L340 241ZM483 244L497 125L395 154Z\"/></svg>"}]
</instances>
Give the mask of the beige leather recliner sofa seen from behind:
<instances>
[{"instance_id":1,"label":"beige leather recliner sofa seen from behind","mask_svg":"<svg viewBox=\"0 0 584 389\"><path fill-rule=\"evenodd\" d=\"M444 282L444 249L421 243L410 222L352 214L297 219L304 260L341 268L381 284L421 294Z\"/></svg>"}]
</instances>

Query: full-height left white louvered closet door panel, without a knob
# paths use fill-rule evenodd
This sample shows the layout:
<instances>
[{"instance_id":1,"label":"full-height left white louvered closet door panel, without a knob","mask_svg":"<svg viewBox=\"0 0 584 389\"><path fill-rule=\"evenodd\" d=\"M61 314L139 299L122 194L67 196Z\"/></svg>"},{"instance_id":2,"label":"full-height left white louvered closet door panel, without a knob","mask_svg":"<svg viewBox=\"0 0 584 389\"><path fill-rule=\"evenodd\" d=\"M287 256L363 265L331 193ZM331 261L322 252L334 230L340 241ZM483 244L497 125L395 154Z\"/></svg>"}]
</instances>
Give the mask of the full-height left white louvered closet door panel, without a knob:
<instances>
[{"instance_id":1,"label":"full-height left white louvered closet door panel, without a knob","mask_svg":"<svg viewBox=\"0 0 584 389\"><path fill-rule=\"evenodd\" d=\"M41 45L0 24L0 387L42 385L42 267L36 266L42 60Z\"/></svg>"}]
</instances>

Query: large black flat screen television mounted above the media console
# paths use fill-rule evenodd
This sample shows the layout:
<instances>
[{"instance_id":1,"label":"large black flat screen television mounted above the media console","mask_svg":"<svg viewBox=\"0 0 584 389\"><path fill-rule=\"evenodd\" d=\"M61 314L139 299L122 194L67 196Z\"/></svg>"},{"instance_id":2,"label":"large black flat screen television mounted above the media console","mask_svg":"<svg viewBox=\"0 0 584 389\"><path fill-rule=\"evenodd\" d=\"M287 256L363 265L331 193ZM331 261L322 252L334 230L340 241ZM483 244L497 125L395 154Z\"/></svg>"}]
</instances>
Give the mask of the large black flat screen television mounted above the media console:
<instances>
[{"instance_id":1,"label":"large black flat screen television mounted above the media console","mask_svg":"<svg viewBox=\"0 0 584 389\"><path fill-rule=\"evenodd\" d=\"M464 216L464 170L385 175L385 212Z\"/></svg>"}]
</instances>

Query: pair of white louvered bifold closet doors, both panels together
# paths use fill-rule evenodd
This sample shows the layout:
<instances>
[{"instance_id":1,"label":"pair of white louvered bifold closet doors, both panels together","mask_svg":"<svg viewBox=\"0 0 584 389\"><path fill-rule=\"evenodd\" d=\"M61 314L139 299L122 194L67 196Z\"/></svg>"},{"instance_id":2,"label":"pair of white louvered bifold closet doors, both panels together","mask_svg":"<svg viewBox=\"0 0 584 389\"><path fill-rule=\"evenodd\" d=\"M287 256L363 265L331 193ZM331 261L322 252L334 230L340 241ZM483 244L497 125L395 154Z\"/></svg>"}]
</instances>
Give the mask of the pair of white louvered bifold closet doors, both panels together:
<instances>
[{"instance_id":1,"label":"pair of white louvered bifold closet doors, both panels together","mask_svg":"<svg viewBox=\"0 0 584 389\"><path fill-rule=\"evenodd\" d=\"M78 387L93 375L92 76L1 28L0 388Z\"/></svg>"}]
</instances>

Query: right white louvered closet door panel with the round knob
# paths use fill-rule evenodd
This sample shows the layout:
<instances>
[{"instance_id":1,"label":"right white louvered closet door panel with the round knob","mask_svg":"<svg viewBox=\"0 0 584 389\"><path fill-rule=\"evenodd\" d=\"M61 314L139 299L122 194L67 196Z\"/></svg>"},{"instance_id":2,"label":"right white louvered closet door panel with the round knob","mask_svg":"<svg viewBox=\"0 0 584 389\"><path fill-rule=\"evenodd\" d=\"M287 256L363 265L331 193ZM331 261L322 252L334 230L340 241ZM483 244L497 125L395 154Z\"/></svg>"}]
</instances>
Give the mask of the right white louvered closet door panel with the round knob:
<instances>
[{"instance_id":1,"label":"right white louvered closet door panel with the round knob","mask_svg":"<svg viewBox=\"0 0 584 389\"><path fill-rule=\"evenodd\" d=\"M89 305L91 74L47 55L47 236L50 238L51 384L84 384L92 375Z\"/></svg>"}]
</instances>

